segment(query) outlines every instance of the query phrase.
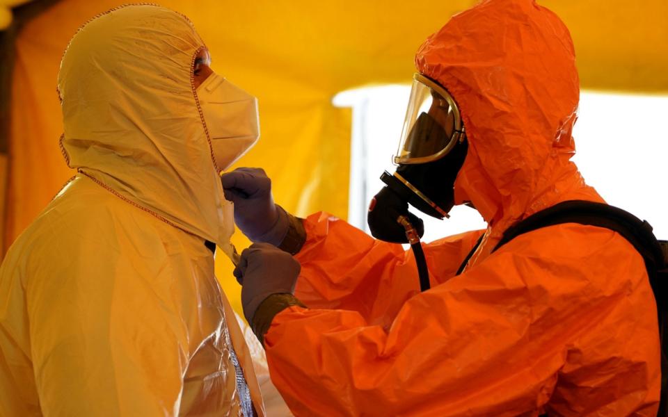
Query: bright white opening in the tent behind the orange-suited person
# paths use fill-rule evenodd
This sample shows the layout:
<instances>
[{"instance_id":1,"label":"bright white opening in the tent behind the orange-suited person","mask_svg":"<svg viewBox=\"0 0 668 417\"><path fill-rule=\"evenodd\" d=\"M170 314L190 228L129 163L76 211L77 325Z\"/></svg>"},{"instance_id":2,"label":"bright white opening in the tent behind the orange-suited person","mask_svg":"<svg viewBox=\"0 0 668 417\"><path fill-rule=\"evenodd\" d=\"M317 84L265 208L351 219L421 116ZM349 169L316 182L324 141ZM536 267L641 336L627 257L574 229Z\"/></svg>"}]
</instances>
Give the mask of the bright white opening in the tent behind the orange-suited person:
<instances>
[{"instance_id":1,"label":"bright white opening in the tent behind the orange-suited person","mask_svg":"<svg viewBox=\"0 0 668 417\"><path fill-rule=\"evenodd\" d=\"M369 231L367 205L381 189L383 170L393 172L410 88L404 85L342 92L336 106L353 108L349 222ZM668 239L665 162L668 155L668 97L583 92L574 136L578 164L587 183L608 203L648 220L658 238ZM414 211L415 212L415 211ZM451 218L427 215L424 241L484 229L477 211L452 209Z\"/></svg>"}]
</instances>

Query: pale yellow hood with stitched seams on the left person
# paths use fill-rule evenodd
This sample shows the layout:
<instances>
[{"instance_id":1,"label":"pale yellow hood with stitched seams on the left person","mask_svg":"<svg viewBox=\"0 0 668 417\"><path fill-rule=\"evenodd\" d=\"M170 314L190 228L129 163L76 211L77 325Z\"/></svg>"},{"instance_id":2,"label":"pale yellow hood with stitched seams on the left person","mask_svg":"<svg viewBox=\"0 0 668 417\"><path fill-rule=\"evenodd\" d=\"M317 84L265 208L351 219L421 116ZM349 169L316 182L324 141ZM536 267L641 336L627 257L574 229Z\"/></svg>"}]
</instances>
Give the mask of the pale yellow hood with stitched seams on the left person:
<instances>
[{"instance_id":1,"label":"pale yellow hood with stitched seams on the left person","mask_svg":"<svg viewBox=\"0 0 668 417\"><path fill-rule=\"evenodd\" d=\"M204 47L186 17L160 6L90 20L58 73L61 147L70 167L229 254L232 207L191 74Z\"/></svg>"}]
</instances>

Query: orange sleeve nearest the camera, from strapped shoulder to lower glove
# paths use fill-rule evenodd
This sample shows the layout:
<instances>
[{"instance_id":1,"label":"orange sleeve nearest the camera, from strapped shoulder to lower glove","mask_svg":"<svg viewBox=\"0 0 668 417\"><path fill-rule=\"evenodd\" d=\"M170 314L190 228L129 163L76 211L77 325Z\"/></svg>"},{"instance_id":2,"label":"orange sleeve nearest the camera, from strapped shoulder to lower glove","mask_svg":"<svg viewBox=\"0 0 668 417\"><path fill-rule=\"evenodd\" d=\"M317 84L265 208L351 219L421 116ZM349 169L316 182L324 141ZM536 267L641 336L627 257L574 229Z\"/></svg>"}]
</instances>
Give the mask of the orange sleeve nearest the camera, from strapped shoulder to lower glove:
<instances>
[{"instance_id":1,"label":"orange sleeve nearest the camera, from strapped shoulder to lower glove","mask_svg":"<svg viewBox=\"0 0 668 417\"><path fill-rule=\"evenodd\" d=\"M369 294L366 281L354 283L360 297L377 296L372 275L390 268L374 261L364 268ZM658 406L658 325L644 263L626 240L595 227L520 236L411 297L387 330L358 311L291 307L265 345L296 416L583 416L613 399L616 415L651 416Z\"/></svg>"}]
</instances>

